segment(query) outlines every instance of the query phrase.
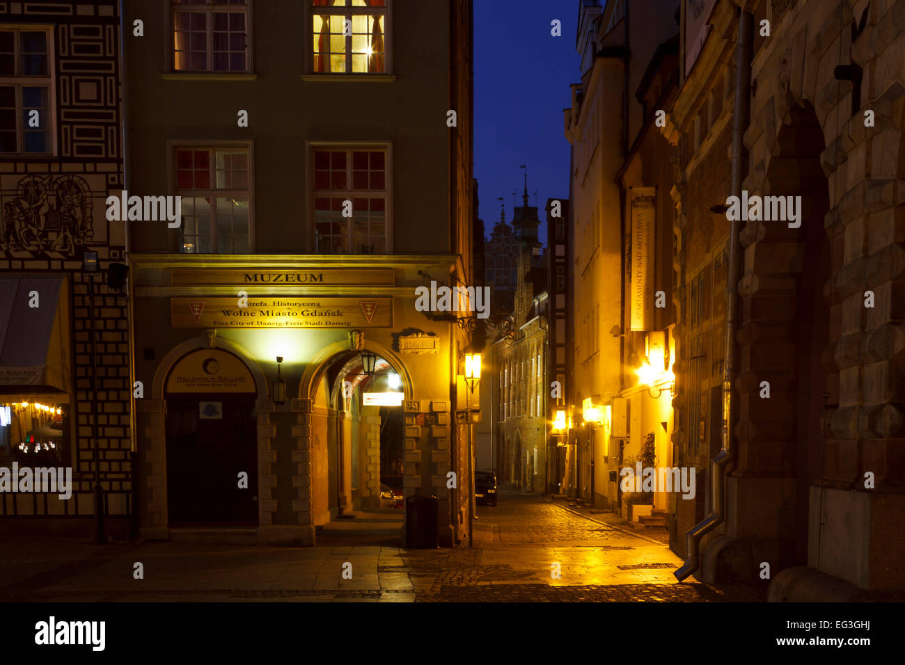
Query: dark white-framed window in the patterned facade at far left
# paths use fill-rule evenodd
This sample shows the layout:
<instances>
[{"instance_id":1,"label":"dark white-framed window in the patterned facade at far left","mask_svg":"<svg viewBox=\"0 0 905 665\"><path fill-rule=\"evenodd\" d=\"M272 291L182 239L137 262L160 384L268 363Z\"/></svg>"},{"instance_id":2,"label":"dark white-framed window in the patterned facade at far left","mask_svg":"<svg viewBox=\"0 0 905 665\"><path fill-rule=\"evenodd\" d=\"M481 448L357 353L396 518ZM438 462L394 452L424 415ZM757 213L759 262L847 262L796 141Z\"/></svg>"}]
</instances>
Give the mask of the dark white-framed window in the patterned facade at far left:
<instances>
[{"instance_id":1,"label":"dark white-framed window in the patterned facade at far left","mask_svg":"<svg viewBox=\"0 0 905 665\"><path fill-rule=\"evenodd\" d=\"M0 30L0 152L52 153L51 33Z\"/></svg>"}]
</instances>

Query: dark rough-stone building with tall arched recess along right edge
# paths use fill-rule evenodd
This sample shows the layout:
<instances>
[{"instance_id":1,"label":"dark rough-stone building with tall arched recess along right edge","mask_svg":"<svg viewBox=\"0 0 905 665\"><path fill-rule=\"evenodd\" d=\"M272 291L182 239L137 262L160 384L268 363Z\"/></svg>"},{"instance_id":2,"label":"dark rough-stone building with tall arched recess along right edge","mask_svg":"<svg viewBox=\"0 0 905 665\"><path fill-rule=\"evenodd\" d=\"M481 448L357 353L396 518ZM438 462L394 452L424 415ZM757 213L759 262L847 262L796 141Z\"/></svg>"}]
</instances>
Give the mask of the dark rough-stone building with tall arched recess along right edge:
<instances>
[{"instance_id":1,"label":"dark rough-stone building with tall arched recess along right edge","mask_svg":"<svg viewBox=\"0 0 905 665\"><path fill-rule=\"evenodd\" d=\"M681 527L694 522L677 543L680 575L756 580L766 562L773 600L901 589L905 384L891 257L905 9L699 5L683 5L666 131L678 166L674 440L702 468L712 460L706 509L680 511ZM772 214L739 219L730 195ZM686 358L710 381L692 381Z\"/></svg>"}]
</instances>

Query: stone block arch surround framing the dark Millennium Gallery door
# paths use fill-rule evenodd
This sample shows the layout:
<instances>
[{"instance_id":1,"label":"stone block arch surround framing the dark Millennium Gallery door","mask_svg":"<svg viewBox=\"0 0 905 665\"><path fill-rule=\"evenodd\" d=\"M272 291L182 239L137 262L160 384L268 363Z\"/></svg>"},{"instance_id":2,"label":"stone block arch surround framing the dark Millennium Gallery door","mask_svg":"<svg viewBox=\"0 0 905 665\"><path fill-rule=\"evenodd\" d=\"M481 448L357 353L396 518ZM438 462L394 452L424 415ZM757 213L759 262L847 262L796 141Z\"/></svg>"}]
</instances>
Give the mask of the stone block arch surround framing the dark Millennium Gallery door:
<instances>
[{"instance_id":1,"label":"stone block arch surround framing the dark Millennium Gallery door","mask_svg":"<svg viewBox=\"0 0 905 665\"><path fill-rule=\"evenodd\" d=\"M164 391L167 376L176 362L198 349L220 348L237 356L248 367L254 378L257 399L255 410L258 414L258 524L260 527L272 523L276 511L276 500L270 496L271 488L276 485L276 476L272 474L271 463L276 461L276 451L271 450L271 440L276 438L276 428L270 423L273 410L267 393L267 379L261 366L243 347L235 342L217 337L215 331L205 331L199 337L186 339L170 349L158 363L151 383L150 395L137 400L137 408L145 417L144 438L147 445L139 447L143 452L139 486L139 505L145 516L141 523L141 536L148 539L168 539L170 529L167 507L167 401ZM139 441L141 439L139 438ZM143 450L141 450L143 448Z\"/></svg>"}]
</instances>

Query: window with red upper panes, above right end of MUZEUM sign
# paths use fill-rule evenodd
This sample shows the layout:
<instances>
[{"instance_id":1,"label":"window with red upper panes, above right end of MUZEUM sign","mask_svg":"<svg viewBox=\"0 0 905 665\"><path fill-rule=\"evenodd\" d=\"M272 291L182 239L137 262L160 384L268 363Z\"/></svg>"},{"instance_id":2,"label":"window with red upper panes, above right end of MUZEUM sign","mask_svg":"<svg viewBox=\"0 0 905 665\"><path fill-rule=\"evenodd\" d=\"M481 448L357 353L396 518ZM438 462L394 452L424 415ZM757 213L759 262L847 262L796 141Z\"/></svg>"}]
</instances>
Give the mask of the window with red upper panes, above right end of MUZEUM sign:
<instances>
[{"instance_id":1,"label":"window with red upper panes, above right end of MUZEUM sign","mask_svg":"<svg viewBox=\"0 0 905 665\"><path fill-rule=\"evenodd\" d=\"M313 151L317 253L387 253L387 157L386 147Z\"/></svg>"}]
</instances>

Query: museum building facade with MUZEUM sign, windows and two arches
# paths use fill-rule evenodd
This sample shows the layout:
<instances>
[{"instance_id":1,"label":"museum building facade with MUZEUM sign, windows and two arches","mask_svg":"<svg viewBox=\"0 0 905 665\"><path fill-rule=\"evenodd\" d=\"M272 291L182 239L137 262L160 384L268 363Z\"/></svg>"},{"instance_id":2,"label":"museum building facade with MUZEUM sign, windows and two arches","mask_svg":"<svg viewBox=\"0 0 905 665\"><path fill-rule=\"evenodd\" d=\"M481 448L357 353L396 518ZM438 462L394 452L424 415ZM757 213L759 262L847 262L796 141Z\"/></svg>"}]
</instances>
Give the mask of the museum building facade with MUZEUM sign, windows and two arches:
<instances>
[{"instance_id":1,"label":"museum building facade with MUZEUM sign, windows and two arches","mask_svg":"<svg viewBox=\"0 0 905 665\"><path fill-rule=\"evenodd\" d=\"M142 534L313 545L389 465L467 544L471 4L126 5Z\"/></svg>"}]
</instances>

